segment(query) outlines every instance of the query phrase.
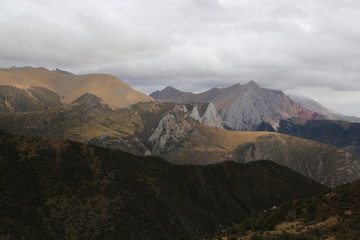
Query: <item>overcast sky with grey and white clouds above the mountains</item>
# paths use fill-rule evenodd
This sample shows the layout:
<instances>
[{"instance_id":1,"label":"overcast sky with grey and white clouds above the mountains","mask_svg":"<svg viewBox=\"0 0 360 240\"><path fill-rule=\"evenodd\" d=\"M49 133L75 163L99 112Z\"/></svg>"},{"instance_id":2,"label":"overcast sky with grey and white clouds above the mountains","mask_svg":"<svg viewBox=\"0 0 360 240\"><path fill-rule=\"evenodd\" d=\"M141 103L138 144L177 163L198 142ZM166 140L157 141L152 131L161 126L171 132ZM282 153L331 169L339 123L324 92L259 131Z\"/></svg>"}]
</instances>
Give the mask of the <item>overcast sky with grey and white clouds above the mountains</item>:
<instances>
[{"instance_id":1,"label":"overcast sky with grey and white clouds above the mountains","mask_svg":"<svg viewBox=\"0 0 360 240\"><path fill-rule=\"evenodd\" d=\"M110 73L151 93L245 84L360 116L358 0L1 0L0 67Z\"/></svg>"}]
</instances>

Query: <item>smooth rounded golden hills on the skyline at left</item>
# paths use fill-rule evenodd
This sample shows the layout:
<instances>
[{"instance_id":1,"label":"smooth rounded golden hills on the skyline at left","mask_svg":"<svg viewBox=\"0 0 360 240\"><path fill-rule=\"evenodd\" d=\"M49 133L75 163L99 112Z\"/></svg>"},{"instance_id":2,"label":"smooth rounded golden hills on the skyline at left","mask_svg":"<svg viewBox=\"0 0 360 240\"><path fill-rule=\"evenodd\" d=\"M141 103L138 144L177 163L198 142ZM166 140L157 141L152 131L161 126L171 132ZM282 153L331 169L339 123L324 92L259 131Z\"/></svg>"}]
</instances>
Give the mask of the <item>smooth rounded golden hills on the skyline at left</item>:
<instances>
[{"instance_id":1,"label":"smooth rounded golden hills on the skyline at left","mask_svg":"<svg viewBox=\"0 0 360 240\"><path fill-rule=\"evenodd\" d=\"M151 97L131 88L122 80L108 74L67 75L45 68L11 68L0 70L0 85L22 89L44 87L72 103L86 93L94 94L112 109L126 108L138 102L152 102Z\"/></svg>"}]
</instances>

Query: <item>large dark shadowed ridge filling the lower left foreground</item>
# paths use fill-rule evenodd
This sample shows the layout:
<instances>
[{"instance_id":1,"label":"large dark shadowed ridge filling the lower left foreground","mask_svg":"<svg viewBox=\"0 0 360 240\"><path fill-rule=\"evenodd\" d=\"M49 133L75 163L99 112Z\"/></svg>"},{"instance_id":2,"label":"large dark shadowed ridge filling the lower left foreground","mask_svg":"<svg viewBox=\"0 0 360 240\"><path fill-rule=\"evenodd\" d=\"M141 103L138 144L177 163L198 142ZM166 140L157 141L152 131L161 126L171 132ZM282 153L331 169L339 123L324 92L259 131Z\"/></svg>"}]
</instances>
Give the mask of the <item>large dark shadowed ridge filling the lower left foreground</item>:
<instances>
[{"instance_id":1,"label":"large dark shadowed ridge filling the lower left foreground","mask_svg":"<svg viewBox=\"0 0 360 240\"><path fill-rule=\"evenodd\" d=\"M176 166L0 132L1 239L189 239L326 188L271 161Z\"/></svg>"}]
</instances>

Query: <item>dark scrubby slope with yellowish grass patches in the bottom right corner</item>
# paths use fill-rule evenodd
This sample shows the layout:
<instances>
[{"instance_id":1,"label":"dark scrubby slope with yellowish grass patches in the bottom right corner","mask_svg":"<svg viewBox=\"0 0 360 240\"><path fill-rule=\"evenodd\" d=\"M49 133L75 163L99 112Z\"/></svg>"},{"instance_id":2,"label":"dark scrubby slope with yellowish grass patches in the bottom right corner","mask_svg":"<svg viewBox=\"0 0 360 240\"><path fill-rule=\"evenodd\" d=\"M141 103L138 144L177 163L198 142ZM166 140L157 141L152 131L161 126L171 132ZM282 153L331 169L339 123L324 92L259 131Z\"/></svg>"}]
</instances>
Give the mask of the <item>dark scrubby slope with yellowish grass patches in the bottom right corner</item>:
<instances>
[{"instance_id":1,"label":"dark scrubby slope with yellowish grass patches in the bottom right corner","mask_svg":"<svg viewBox=\"0 0 360 240\"><path fill-rule=\"evenodd\" d=\"M359 239L360 181L267 209L207 239ZM224 238L222 238L224 237Z\"/></svg>"}]
</instances>

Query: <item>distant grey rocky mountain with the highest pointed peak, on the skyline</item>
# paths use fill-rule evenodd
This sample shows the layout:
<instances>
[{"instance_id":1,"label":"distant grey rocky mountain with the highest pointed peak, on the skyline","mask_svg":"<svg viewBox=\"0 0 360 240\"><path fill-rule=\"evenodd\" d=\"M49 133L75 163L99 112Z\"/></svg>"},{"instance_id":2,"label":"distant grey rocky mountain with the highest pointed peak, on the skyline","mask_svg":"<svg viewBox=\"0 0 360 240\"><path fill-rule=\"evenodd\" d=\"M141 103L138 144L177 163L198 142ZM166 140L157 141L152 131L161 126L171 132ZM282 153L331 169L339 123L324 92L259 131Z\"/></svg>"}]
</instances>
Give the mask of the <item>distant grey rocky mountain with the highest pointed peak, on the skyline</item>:
<instances>
[{"instance_id":1,"label":"distant grey rocky mountain with the highest pointed peak, on the skyline","mask_svg":"<svg viewBox=\"0 0 360 240\"><path fill-rule=\"evenodd\" d=\"M224 125L233 130L274 131L281 119L323 117L294 102L282 91L260 88L254 81L246 85L235 84L227 88L213 88L199 94L180 92L167 87L150 96L164 102L211 102Z\"/></svg>"}]
</instances>

